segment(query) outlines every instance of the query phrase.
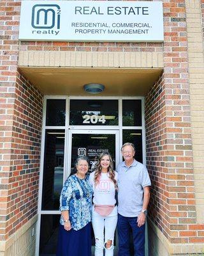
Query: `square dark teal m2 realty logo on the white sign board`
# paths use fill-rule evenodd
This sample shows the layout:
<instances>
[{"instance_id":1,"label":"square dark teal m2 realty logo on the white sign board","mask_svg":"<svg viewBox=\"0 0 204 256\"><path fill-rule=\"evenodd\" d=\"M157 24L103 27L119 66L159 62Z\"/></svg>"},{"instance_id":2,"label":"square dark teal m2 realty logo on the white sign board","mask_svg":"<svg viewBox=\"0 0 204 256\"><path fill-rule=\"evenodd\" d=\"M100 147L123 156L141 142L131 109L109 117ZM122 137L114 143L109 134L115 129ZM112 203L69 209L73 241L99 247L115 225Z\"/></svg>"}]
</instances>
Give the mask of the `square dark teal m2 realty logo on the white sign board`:
<instances>
[{"instance_id":1,"label":"square dark teal m2 realty logo on the white sign board","mask_svg":"<svg viewBox=\"0 0 204 256\"><path fill-rule=\"evenodd\" d=\"M60 29L61 8L58 4L35 4L32 9L31 26L35 34L57 35Z\"/></svg>"}]
</instances>

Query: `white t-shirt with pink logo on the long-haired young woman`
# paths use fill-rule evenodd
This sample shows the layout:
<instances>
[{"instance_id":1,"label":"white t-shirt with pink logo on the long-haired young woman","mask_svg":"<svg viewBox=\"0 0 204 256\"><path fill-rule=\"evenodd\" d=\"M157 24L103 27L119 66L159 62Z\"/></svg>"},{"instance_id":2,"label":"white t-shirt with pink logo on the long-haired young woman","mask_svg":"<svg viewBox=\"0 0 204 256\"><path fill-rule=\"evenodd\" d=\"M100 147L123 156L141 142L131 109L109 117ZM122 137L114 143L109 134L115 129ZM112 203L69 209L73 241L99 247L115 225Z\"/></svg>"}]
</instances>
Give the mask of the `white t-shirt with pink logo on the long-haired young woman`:
<instances>
[{"instance_id":1,"label":"white t-shirt with pink logo on the long-haired young woman","mask_svg":"<svg viewBox=\"0 0 204 256\"><path fill-rule=\"evenodd\" d=\"M101 177L96 186L94 184L94 175L95 172L92 172L89 176L89 182L94 191L93 203L96 205L115 205L115 185L112 180L109 179L109 173L101 173ZM115 172L115 180L117 181L117 172Z\"/></svg>"}]
</instances>

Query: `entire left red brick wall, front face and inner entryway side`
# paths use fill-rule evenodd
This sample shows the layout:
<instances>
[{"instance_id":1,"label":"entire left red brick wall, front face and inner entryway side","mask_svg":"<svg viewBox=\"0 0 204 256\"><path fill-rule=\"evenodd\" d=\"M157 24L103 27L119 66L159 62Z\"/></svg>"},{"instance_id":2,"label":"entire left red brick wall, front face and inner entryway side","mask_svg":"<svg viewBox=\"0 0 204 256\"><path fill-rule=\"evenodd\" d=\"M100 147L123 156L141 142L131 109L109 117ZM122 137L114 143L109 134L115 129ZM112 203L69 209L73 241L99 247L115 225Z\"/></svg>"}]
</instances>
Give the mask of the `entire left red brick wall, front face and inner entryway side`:
<instances>
[{"instance_id":1,"label":"entire left red brick wall, front face and inner entryway side","mask_svg":"<svg viewBox=\"0 0 204 256\"><path fill-rule=\"evenodd\" d=\"M42 95L17 70L20 1L0 3L0 241L37 210Z\"/></svg>"}]
</instances>

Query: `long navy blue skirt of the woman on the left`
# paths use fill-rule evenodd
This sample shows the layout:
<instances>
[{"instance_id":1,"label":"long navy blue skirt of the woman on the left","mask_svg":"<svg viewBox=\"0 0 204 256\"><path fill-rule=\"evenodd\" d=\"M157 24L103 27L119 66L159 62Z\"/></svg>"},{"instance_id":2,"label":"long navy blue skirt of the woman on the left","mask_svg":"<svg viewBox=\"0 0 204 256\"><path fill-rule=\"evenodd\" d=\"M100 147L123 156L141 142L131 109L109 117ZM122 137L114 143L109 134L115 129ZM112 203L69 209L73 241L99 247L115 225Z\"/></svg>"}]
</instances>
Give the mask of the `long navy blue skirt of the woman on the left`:
<instances>
[{"instance_id":1,"label":"long navy blue skirt of the woman on the left","mask_svg":"<svg viewBox=\"0 0 204 256\"><path fill-rule=\"evenodd\" d=\"M56 256L91 256L91 222L77 231L59 225Z\"/></svg>"}]
</instances>

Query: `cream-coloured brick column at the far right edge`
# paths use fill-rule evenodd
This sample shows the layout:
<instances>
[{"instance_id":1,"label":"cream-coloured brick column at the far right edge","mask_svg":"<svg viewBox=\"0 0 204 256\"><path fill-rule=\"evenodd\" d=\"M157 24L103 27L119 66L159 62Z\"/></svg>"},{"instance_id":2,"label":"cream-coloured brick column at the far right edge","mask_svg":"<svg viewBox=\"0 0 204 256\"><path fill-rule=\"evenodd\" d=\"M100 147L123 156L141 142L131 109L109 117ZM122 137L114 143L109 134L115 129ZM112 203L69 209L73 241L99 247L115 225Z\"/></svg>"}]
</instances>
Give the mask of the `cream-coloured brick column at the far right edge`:
<instances>
[{"instance_id":1,"label":"cream-coloured brick column at the far right edge","mask_svg":"<svg viewBox=\"0 0 204 256\"><path fill-rule=\"evenodd\" d=\"M194 182L197 220L204 223L204 2L187 0L187 30L189 36L189 82L191 92L191 128L193 138ZM195 26L196 24L196 26Z\"/></svg>"}]
</instances>

